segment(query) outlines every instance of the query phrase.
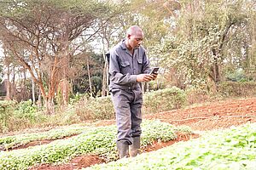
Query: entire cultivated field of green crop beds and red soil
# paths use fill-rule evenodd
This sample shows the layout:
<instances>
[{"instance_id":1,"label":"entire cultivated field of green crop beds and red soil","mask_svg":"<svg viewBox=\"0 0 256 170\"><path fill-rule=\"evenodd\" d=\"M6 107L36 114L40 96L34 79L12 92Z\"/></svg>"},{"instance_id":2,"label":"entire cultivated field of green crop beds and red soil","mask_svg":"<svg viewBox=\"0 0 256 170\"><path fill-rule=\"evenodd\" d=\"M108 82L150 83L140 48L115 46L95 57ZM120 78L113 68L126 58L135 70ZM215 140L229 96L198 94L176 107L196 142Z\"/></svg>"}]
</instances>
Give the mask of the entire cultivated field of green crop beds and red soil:
<instances>
[{"instance_id":1,"label":"entire cultivated field of green crop beds and red soil","mask_svg":"<svg viewBox=\"0 0 256 170\"><path fill-rule=\"evenodd\" d=\"M228 99L146 114L144 153L119 161L115 161L114 120L2 137L0 169L254 169L255 117L256 98ZM201 138L195 139L199 136L195 133ZM45 139L49 139L49 144L40 143ZM189 139L192 140L179 142ZM39 145L32 145L35 141ZM20 149L22 144L24 149ZM100 163L103 164L93 167Z\"/></svg>"}]
</instances>

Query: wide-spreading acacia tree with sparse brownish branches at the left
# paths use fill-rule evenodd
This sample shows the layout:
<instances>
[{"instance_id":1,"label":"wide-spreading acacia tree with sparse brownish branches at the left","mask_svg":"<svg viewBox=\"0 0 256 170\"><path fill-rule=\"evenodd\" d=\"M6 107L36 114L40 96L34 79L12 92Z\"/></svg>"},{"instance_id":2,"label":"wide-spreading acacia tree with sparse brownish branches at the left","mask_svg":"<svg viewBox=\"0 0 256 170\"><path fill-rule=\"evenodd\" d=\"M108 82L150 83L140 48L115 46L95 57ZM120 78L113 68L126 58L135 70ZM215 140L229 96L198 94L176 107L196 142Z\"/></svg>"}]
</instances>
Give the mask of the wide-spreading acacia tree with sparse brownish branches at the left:
<instances>
[{"instance_id":1,"label":"wide-spreading acacia tree with sparse brownish branches at the left","mask_svg":"<svg viewBox=\"0 0 256 170\"><path fill-rule=\"evenodd\" d=\"M3 10L0 18L3 42L30 72L47 112L53 113L59 82L75 70L71 59L86 50L81 37L88 41L94 35L90 26L108 15L108 5L83 0L24 0L5 5L9 11Z\"/></svg>"}]
</instances>

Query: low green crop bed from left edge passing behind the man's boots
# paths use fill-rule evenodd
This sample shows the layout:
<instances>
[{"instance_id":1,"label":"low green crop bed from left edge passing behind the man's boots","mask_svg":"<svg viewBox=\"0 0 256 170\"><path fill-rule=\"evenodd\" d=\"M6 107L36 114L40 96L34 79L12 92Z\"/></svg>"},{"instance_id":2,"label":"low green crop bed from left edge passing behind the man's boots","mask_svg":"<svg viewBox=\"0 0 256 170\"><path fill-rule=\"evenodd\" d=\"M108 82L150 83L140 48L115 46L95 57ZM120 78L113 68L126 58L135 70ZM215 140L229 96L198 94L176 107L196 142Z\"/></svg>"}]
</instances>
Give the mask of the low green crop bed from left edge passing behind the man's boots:
<instances>
[{"instance_id":1,"label":"low green crop bed from left edge passing behind the man's boots","mask_svg":"<svg viewBox=\"0 0 256 170\"><path fill-rule=\"evenodd\" d=\"M152 141L175 139L173 126L162 122L143 122L144 145ZM24 150L0 152L1 169L27 169L38 163L61 163L82 154L108 156L117 159L116 127L91 127L70 139L55 140L50 144L38 145Z\"/></svg>"}]
</instances>

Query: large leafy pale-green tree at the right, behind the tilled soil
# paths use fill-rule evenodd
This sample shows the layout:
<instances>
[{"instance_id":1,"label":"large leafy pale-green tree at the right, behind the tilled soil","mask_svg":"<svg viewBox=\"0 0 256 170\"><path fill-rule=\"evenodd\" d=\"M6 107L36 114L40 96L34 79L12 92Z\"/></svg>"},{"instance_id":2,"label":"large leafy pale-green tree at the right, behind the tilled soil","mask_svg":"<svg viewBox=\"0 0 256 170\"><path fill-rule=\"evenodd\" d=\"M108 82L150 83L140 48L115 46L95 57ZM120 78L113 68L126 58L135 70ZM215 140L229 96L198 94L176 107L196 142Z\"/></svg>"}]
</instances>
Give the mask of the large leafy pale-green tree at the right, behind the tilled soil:
<instances>
[{"instance_id":1,"label":"large leafy pale-green tree at the right, behind the tilled soil","mask_svg":"<svg viewBox=\"0 0 256 170\"><path fill-rule=\"evenodd\" d=\"M245 40L250 37L248 20L253 18L247 10L252 9L252 3L242 0L180 1L182 8L173 22L175 28L155 48L155 53L162 54L162 66L176 71L175 77L182 79L181 86L205 86L207 81L212 81L218 88L226 62L231 62L230 56L241 59L240 65L245 61L241 54L245 48L241 44L251 44ZM229 45L234 42L240 45Z\"/></svg>"}]
</instances>

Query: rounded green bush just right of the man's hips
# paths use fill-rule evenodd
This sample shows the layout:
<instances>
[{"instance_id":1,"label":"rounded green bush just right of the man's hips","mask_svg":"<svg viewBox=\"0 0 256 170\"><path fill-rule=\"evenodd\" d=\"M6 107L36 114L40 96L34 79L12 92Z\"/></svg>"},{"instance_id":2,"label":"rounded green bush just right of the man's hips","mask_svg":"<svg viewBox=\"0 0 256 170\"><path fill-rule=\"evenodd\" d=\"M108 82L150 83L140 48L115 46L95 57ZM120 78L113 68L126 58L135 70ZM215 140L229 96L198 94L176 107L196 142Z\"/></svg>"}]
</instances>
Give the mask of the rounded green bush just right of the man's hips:
<instances>
[{"instance_id":1,"label":"rounded green bush just right of the man's hips","mask_svg":"<svg viewBox=\"0 0 256 170\"><path fill-rule=\"evenodd\" d=\"M143 96L145 113L157 113L179 109L186 101L186 95L180 88L166 88L146 93Z\"/></svg>"}]
</instances>

